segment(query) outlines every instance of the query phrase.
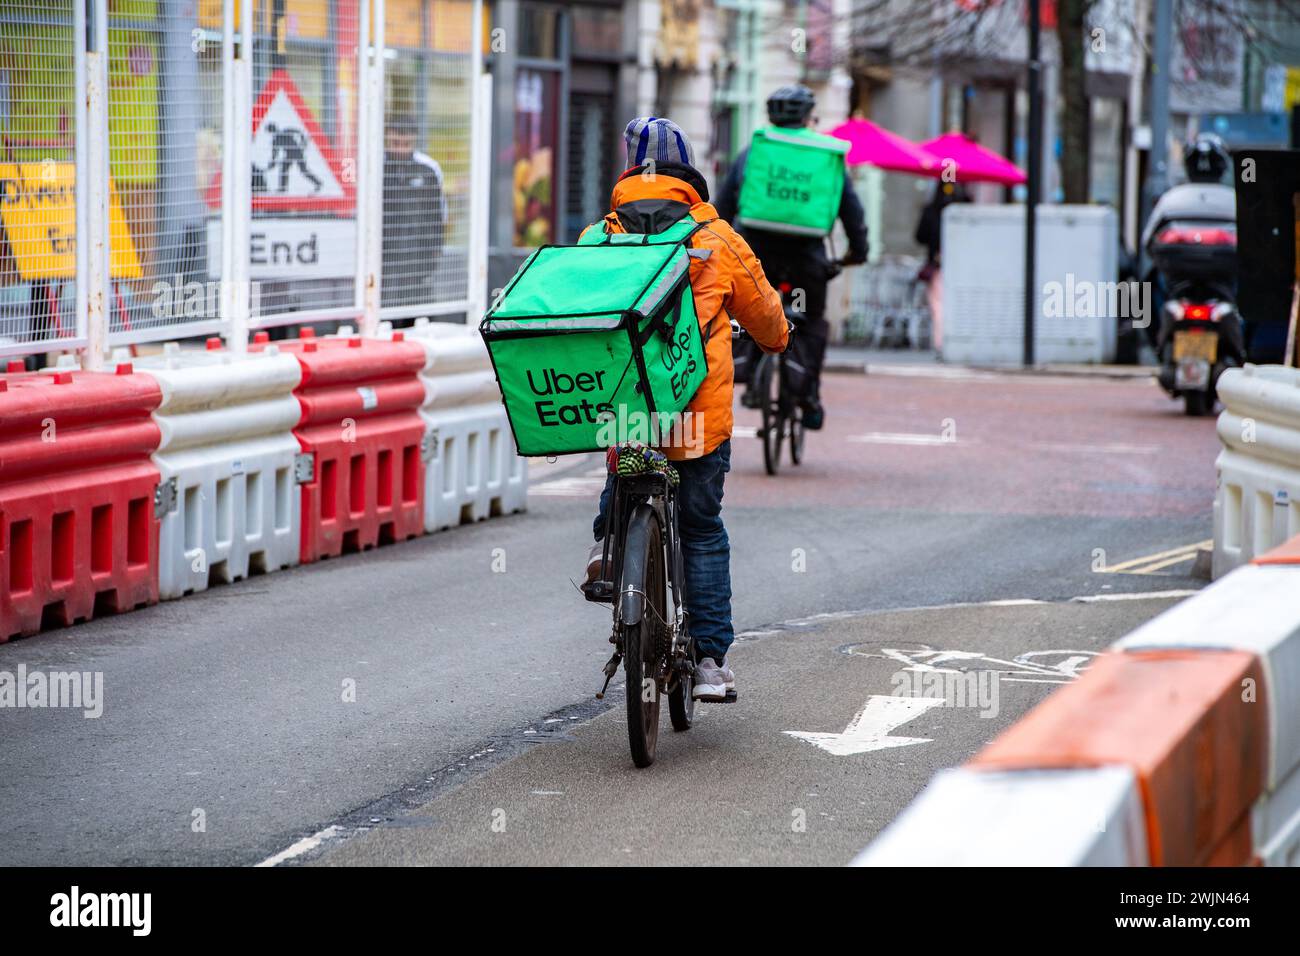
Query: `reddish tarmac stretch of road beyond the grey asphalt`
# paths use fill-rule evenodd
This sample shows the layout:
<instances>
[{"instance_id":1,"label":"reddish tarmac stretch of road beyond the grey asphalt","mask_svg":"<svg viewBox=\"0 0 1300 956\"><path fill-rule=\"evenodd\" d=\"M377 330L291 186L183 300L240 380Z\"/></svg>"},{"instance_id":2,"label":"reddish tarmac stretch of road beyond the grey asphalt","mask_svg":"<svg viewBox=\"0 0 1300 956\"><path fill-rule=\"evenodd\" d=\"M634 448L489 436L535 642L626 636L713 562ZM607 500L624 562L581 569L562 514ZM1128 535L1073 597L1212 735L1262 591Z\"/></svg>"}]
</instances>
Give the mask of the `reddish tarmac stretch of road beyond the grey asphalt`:
<instances>
[{"instance_id":1,"label":"reddish tarmac stretch of road beyond the grey asphalt","mask_svg":"<svg viewBox=\"0 0 1300 956\"><path fill-rule=\"evenodd\" d=\"M827 423L779 484L737 408L728 506L853 505L962 514L1204 515L1214 419L1191 419L1150 380L828 373ZM748 429L748 431L746 431ZM944 441L944 436L953 438Z\"/></svg>"}]
</instances>

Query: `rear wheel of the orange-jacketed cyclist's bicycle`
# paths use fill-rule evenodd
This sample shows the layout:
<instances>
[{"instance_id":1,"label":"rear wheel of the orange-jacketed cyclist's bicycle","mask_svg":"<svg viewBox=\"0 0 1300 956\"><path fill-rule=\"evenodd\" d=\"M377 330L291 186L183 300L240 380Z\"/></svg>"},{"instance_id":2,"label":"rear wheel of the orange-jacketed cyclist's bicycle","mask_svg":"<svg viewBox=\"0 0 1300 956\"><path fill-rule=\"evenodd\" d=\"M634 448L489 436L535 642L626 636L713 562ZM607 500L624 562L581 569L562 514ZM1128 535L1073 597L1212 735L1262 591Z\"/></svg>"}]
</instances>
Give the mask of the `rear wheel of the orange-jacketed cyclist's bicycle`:
<instances>
[{"instance_id":1,"label":"rear wheel of the orange-jacketed cyclist's bicycle","mask_svg":"<svg viewBox=\"0 0 1300 956\"><path fill-rule=\"evenodd\" d=\"M641 620L623 626L623 669L628 678L628 745L632 748L632 762L638 767L647 767L654 763L659 743L658 678L666 653L662 645L667 637L666 574L659 523L651 519L637 527L633 519L627 548L623 562L627 574L620 591L628 593L630 587L645 594ZM632 549L637 549L640 554L633 554ZM628 579L628 574L637 575L634 568L644 568L641 580Z\"/></svg>"}]
</instances>

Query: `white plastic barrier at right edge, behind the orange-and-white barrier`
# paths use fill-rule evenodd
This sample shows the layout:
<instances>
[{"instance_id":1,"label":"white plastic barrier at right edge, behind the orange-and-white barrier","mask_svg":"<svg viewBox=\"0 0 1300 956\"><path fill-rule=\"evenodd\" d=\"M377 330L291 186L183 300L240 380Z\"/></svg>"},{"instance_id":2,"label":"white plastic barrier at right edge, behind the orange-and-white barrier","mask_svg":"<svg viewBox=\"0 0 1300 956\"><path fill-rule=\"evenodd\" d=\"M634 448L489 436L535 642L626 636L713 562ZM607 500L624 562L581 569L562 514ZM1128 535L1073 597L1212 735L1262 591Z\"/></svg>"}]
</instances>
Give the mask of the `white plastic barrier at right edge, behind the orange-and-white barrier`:
<instances>
[{"instance_id":1,"label":"white plastic barrier at right edge, behind the orange-and-white barrier","mask_svg":"<svg viewBox=\"0 0 1300 956\"><path fill-rule=\"evenodd\" d=\"M1300 535L1300 369L1228 369L1218 393L1216 578Z\"/></svg>"}]
</instances>

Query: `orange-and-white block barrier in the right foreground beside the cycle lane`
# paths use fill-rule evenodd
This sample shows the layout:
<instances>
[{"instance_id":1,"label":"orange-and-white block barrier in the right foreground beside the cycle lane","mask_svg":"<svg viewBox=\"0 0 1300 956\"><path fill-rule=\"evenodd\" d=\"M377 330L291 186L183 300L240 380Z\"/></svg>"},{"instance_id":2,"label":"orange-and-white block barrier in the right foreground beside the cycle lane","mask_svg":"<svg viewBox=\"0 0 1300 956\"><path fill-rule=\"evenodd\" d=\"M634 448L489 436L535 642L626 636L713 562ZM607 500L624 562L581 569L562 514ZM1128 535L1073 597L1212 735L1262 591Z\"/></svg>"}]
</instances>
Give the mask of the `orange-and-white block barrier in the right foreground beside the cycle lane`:
<instances>
[{"instance_id":1,"label":"orange-and-white block barrier in the right foreground beside the cycle lane","mask_svg":"<svg viewBox=\"0 0 1300 956\"><path fill-rule=\"evenodd\" d=\"M1297 594L1300 538L1118 641L854 864L1300 865Z\"/></svg>"}]
</instances>

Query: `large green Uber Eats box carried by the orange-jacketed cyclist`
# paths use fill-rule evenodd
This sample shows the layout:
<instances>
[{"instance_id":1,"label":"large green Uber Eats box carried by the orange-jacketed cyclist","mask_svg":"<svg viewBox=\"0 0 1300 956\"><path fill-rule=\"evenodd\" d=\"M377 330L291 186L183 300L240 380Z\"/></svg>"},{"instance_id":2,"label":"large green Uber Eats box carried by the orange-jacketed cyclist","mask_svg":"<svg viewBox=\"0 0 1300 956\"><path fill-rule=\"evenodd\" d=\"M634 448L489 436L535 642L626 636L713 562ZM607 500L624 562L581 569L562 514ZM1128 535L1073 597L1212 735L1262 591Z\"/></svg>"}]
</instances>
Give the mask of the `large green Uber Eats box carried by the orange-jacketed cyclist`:
<instances>
[{"instance_id":1,"label":"large green Uber Eats box carried by the orange-jacketed cyclist","mask_svg":"<svg viewBox=\"0 0 1300 956\"><path fill-rule=\"evenodd\" d=\"M599 451L668 431L708 367L686 216L653 235L588 229L542 246L478 329L521 455ZM654 429L651 432L651 429Z\"/></svg>"}]
</instances>

